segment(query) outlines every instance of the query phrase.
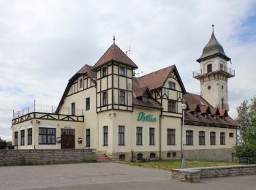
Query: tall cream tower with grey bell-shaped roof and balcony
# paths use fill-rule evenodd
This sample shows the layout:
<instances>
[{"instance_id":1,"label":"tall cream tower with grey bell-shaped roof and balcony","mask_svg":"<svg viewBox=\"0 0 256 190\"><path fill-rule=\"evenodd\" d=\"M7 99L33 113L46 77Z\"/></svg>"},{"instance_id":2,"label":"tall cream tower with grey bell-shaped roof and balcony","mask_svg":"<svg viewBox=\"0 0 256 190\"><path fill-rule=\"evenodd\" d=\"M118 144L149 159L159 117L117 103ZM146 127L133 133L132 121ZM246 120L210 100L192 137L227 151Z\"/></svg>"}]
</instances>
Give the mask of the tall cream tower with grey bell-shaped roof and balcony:
<instances>
[{"instance_id":1,"label":"tall cream tower with grey bell-shaped roof and balcony","mask_svg":"<svg viewBox=\"0 0 256 190\"><path fill-rule=\"evenodd\" d=\"M197 62L200 70L193 72L193 77L200 80L200 95L213 107L229 110L227 104L227 79L235 76L235 71L227 67L226 56L222 45L214 35L214 25L211 39L203 48L203 53Z\"/></svg>"}]
</instances>

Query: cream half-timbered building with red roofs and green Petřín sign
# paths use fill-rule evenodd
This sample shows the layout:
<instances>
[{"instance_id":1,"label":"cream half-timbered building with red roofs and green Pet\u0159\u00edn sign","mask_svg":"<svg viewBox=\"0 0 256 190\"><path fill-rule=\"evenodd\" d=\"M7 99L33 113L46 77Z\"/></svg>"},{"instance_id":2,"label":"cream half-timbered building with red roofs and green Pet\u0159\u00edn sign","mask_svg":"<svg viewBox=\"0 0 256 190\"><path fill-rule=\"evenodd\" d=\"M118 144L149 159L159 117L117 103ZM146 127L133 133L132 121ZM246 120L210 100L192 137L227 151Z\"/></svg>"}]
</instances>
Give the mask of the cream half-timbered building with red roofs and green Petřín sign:
<instances>
[{"instance_id":1,"label":"cream half-timbered building with red roofs and green Pet\u0159\u00edn sign","mask_svg":"<svg viewBox=\"0 0 256 190\"><path fill-rule=\"evenodd\" d=\"M175 65L142 77L116 45L69 79L58 107L14 113L18 149L94 148L112 159L181 157L184 101L188 158L230 159L238 124L227 113L228 58L214 32L197 61L201 96L186 91Z\"/></svg>"}]
</instances>

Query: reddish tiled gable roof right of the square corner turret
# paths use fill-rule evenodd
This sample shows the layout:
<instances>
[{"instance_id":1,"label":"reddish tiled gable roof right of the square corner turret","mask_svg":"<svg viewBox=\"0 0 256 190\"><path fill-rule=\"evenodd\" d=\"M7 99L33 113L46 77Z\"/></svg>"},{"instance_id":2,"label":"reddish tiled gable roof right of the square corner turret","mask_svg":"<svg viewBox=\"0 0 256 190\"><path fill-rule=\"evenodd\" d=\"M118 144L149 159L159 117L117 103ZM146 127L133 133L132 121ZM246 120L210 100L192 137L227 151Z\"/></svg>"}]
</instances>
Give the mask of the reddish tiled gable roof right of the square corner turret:
<instances>
[{"instance_id":1,"label":"reddish tiled gable roof right of the square corner turret","mask_svg":"<svg viewBox=\"0 0 256 190\"><path fill-rule=\"evenodd\" d=\"M147 75L143 75L138 77L138 82L140 86L148 86L148 89L154 90L156 88L161 88L165 85L167 78L169 77L171 72L175 72L176 77L178 78L178 83L181 86L183 92L186 92L184 85L181 81L181 77L178 74L178 70L176 69L175 65L167 66L163 69L159 69L156 72L151 72Z\"/></svg>"}]
</instances>

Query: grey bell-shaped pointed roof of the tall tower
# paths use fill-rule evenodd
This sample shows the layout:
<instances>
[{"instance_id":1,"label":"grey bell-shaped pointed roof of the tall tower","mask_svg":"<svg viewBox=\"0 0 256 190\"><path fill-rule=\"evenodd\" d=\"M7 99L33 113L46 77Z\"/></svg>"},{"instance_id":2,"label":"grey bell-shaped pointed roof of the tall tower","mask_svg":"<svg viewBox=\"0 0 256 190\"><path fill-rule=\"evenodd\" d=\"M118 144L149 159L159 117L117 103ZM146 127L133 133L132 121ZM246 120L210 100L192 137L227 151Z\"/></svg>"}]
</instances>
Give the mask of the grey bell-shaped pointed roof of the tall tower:
<instances>
[{"instance_id":1,"label":"grey bell-shaped pointed roof of the tall tower","mask_svg":"<svg viewBox=\"0 0 256 190\"><path fill-rule=\"evenodd\" d=\"M230 61L230 58L226 56L224 49L222 45L219 44L217 41L215 35L214 35L214 25L212 34L211 34L211 39L207 43L207 45L203 48L203 53L200 56L200 58L197 59L197 62L203 61L206 58L211 58L215 56L221 56L222 58L225 58L227 61Z\"/></svg>"}]
</instances>

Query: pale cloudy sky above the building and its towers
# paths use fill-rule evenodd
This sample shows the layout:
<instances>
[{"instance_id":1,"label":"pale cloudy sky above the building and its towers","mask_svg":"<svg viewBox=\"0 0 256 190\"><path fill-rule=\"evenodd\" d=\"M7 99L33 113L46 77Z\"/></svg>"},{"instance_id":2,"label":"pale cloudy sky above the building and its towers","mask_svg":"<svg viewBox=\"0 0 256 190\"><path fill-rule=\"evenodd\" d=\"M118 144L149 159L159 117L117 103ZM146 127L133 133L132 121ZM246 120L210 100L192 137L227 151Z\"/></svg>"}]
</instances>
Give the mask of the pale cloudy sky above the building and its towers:
<instances>
[{"instance_id":1,"label":"pale cloudy sky above the building and its towers","mask_svg":"<svg viewBox=\"0 0 256 190\"><path fill-rule=\"evenodd\" d=\"M131 47L135 72L176 64L187 91L200 94L192 71L214 34L232 59L229 115L256 94L256 1L0 0L0 137L11 140L12 110L58 105L75 72L94 65L113 43Z\"/></svg>"}]
</instances>

